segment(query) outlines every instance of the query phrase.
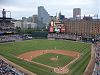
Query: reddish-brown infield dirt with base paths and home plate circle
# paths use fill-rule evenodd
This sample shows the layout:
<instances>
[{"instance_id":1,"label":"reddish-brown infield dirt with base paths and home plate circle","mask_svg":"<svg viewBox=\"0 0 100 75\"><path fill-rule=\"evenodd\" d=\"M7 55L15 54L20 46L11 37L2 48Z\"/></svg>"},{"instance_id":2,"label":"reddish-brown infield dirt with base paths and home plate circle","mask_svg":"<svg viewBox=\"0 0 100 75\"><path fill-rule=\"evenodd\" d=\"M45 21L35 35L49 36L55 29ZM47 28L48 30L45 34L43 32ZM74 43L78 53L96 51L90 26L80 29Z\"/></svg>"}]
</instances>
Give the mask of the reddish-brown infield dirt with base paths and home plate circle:
<instances>
[{"instance_id":1,"label":"reddish-brown infield dirt with base paths and home plate circle","mask_svg":"<svg viewBox=\"0 0 100 75\"><path fill-rule=\"evenodd\" d=\"M48 66L48 65L44 65L44 64L32 61L33 58L36 58L36 57L38 57L40 55L47 54L47 53L62 54L62 55L73 57L75 59L73 61L71 61L69 64L66 64L63 67L58 67L58 68L51 67L51 66ZM49 68L53 68L54 72L56 72L56 73L65 74L65 73L69 72L68 66L70 64L74 63L77 59L79 59L80 55L81 54L79 52L75 52L75 51L65 51L65 50L36 50L36 51L30 51L30 52L23 53L23 54L19 55L18 57L21 58L21 59L23 59L23 60L26 60L26 61L29 61L29 62L33 62L33 63L41 65L41 66L45 66L45 67L47 66Z\"/></svg>"}]
</instances>

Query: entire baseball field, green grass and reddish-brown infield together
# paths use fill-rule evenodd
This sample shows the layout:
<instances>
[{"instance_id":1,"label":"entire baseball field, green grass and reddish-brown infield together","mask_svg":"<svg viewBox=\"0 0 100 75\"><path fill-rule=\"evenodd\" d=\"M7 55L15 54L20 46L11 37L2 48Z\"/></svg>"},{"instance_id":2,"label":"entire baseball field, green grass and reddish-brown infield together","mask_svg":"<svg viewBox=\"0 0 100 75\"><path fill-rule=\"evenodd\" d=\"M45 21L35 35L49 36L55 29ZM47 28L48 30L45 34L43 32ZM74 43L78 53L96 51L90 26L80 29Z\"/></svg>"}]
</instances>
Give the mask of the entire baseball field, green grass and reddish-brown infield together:
<instances>
[{"instance_id":1,"label":"entire baseball field, green grass and reddish-brown infield together","mask_svg":"<svg viewBox=\"0 0 100 75\"><path fill-rule=\"evenodd\" d=\"M0 44L0 55L37 75L83 75L91 44L68 40L27 40Z\"/></svg>"}]
</instances>

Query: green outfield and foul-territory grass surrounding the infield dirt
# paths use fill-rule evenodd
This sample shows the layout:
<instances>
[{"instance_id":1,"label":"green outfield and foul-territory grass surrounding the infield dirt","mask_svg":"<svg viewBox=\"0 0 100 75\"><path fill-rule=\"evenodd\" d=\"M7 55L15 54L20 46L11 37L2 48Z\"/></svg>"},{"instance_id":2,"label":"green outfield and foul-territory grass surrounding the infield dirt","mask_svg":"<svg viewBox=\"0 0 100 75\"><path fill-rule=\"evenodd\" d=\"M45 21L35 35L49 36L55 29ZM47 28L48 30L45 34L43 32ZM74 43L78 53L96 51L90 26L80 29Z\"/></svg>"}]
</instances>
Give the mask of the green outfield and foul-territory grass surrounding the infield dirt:
<instances>
[{"instance_id":1,"label":"green outfield and foul-territory grass surrounding the infield dirt","mask_svg":"<svg viewBox=\"0 0 100 75\"><path fill-rule=\"evenodd\" d=\"M56 49L55 49L56 47ZM72 50L82 54L82 56L74 64L70 65L68 75L82 75L90 60L91 44L79 43L64 40L27 40L22 42L14 42L9 44L0 44L0 55L6 57L10 61L34 72L38 75L58 75L50 72L51 69L29 64L26 61L16 58L17 55L32 50ZM20 62L19 62L20 61Z\"/></svg>"}]
</instances>

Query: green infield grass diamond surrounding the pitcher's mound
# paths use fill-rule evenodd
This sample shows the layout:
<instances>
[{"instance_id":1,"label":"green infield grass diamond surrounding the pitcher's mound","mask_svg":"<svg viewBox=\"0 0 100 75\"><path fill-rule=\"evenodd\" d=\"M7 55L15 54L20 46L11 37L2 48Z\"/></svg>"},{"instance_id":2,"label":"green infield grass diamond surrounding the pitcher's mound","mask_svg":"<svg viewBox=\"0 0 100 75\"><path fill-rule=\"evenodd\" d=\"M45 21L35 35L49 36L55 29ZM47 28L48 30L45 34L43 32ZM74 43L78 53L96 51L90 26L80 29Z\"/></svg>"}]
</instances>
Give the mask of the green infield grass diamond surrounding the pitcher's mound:
<instances>
[{"instance_id":1,"label":"green infield grass diamond surrounding the pitcher's mound","mask_svg":"<svg viewBox=\"0 0 100 75\"><path fill-rule=\"evenodd\" d=\"M56 61L50 60L50 58L57 58L57 56L58 56L58 60ZM65 56L62 54L47 53L47 54L43 54L41 56L34 58L32 61L45 64L45 65L49 65L52 67L58 67L58 66L63 67L69 62L71 62L73 59L74 58Z\"/></svg>"}]
</instances>

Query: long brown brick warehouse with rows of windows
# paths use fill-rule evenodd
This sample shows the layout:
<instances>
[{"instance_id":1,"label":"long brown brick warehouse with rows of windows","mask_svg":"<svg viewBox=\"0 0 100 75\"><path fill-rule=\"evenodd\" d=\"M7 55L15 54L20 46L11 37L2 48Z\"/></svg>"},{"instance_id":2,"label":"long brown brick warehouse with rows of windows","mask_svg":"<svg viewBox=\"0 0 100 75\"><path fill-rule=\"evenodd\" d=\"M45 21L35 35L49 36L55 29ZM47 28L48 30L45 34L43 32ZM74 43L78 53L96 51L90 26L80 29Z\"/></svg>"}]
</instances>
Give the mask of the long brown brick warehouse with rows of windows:
<instances>
[{"instance_id":1,"label":"long brown brick warehouse with rows of windows","mask_svg":"<svg viewBox=\"0 0 100 75\"><path fill-rule=\"evenodd\" d=\"M100 34L100 19L84 17L81 20L64 21L66 33L95 37Z\"/></svg>"}]
</instances>

